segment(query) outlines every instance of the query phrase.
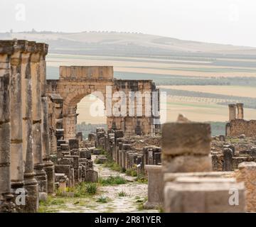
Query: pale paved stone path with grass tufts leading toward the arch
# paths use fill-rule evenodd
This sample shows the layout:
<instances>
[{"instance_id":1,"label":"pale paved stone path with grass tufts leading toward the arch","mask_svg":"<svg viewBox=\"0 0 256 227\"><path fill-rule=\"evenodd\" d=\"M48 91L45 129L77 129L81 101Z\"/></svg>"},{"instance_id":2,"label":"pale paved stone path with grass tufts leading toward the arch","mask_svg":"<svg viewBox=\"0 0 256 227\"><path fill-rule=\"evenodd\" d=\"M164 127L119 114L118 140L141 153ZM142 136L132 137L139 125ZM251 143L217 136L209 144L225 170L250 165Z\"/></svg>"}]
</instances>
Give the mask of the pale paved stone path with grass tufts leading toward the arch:
<instances>
[{"instance_id":1,"label":"pale paved stone path with grass tufts leading toward the arch","mask_svg":"<svg viewBox=\"0 0 256 227\"><path fill-rule=\"evenodd\" d=\"M95 157L92 157L95 159ZM94 170L99 173L99 177L122 176L127 179L127 184L100 186L98 193L89 198L64 198L65 202L59 205L48 206L46 212L58 213L115 213L115 212L159 212L159 210L143 209L142 204L147 196L147 184L135 181L136 177L130 177L124 173L119 173L103 167L101 164L94 164ZM124 192L125 196L119 196L119 192ZM100 197L107 197L107 203L98 202Z\"/></svg>"}]
</instances>

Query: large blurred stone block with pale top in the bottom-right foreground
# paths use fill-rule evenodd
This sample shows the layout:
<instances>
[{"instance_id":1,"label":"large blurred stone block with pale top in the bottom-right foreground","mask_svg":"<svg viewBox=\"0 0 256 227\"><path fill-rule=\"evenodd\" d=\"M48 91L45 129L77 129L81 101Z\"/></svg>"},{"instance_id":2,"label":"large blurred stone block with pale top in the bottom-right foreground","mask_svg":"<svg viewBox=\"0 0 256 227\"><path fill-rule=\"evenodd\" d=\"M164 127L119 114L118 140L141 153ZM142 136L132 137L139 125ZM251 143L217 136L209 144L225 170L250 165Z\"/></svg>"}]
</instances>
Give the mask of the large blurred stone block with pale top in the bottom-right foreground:
<instances>
[{"instance_id":1,"label":"large blurred stone block with pale top in the bottom-right foreground","mask_svg":"<svg viewBox=\"0 0 256 227\"><path fill-rule=\"evenodd\" d=\"M171 213L245 212L245 187L230 179L186 177L164 187L164 211ZM190 178L190 179L189 179ZM238 205L230 204L230 189L238 191Z\"/></svg>"}]
</instances>

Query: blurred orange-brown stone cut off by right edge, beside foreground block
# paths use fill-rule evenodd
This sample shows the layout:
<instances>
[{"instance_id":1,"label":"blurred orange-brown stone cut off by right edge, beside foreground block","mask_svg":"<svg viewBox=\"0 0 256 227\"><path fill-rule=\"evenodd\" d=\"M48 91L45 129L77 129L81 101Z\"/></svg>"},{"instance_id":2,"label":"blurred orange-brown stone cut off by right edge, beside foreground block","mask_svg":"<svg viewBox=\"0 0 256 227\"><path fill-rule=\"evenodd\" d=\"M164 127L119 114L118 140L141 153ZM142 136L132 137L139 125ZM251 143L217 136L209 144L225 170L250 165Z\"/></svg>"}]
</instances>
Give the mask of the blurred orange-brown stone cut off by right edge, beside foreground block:
<instances>
[{"instance_id":1,"label":"blurred orange-brown stone cut off by right edge, beside foreground block","mask_svg":"<svg viewBox=\"0 0 256 227\"><path fill-rule=\"evenodd\" d=\"M235 175L238 182L245 183L246 211L256 212L256 163L240 163Z\"/></svg>"}]
</instances>

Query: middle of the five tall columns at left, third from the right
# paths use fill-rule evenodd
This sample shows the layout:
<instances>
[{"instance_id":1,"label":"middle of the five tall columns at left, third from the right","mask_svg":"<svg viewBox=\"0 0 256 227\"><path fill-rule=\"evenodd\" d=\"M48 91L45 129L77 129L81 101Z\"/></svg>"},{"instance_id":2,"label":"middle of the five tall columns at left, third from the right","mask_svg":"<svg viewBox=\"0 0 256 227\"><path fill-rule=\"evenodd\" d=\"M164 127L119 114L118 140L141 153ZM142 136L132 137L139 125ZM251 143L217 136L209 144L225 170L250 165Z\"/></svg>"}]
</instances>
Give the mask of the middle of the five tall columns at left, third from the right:
<instances>
[{"instance_id":1,"label":"middle of the five tall columns at left, third from the right","mask_svg":"<svg viewBox=\"0 0 256 227\"><path fill-rule=\"evenodd\" d=\"M33 172L31 55L36 52L36 43L26 41L25 45L21 60L24 187L27 192L25 211L34 213L38 209L38 182Z\"/></svg>"}]
</instances>

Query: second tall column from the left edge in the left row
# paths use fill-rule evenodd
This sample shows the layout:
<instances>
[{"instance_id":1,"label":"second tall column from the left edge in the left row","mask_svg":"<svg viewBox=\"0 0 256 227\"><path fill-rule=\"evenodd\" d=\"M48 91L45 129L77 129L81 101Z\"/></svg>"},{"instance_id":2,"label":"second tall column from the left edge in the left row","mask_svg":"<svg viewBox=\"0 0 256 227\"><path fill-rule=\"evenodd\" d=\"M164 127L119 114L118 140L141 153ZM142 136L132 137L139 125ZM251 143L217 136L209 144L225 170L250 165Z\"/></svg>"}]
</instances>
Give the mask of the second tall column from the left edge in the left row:
<instances>
[{"instance_id":1,"label":"second tall column from the left edge in the left row","mask_svg":"<svg viewBox=\"0 0 256 227\"><path fill-rule=\"evenodd\" d=\"M23 188L23 140L21 99L21 53L25 43L18 42L11 55L10 117L11 117L11 189Z\"/></svg>"}]
</instances>

